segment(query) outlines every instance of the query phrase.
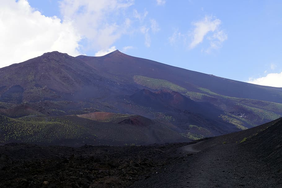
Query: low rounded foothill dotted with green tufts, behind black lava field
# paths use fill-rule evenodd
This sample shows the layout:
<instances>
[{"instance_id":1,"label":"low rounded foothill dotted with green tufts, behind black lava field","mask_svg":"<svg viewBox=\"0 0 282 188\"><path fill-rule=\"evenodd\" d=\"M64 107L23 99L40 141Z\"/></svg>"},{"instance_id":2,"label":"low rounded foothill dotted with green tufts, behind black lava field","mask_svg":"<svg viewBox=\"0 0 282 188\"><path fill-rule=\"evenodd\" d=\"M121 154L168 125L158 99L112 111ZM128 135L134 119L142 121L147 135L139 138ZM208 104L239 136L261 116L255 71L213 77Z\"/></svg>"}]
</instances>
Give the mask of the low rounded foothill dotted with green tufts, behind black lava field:
<instances>
[{"instance_id":1,"label":"low rounded foothill dotted with green tufts, behind black lava field","mask_svg":"<svg viewBox=\"0 0 282 188\"><path fill-rule=\"evenodd\" d=\"M126 146L191 141L173 126L142 116L112 114L103 120L93 119L89 118L89 114L18 119L0 115L0 144L24 142L77 147L86 144Z\"/></svg>"}]
</instances>

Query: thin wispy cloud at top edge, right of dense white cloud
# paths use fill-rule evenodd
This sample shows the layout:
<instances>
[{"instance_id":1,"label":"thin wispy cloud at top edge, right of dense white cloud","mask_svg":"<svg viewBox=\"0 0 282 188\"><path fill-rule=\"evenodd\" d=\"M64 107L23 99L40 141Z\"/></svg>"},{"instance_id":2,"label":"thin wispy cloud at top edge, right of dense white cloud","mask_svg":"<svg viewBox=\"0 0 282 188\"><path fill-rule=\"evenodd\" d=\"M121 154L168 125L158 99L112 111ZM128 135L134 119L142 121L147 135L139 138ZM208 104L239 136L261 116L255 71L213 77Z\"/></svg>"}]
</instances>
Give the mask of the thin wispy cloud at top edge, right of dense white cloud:
<instances>
[{"instance_id":1,"label":"thin wispy cloud at top edge, right of dense white cloud","mask_svg":"<svg viewBox=\"0 0 282 188\"><path fill-rule=\"evenodd\" d=\"M62 0L60 11L64 20L69 20L77 31L91 44L89 48L107 49L121 35L126 34L131 21L122 11L133 1Z\"/></svg>"}]
</instances>

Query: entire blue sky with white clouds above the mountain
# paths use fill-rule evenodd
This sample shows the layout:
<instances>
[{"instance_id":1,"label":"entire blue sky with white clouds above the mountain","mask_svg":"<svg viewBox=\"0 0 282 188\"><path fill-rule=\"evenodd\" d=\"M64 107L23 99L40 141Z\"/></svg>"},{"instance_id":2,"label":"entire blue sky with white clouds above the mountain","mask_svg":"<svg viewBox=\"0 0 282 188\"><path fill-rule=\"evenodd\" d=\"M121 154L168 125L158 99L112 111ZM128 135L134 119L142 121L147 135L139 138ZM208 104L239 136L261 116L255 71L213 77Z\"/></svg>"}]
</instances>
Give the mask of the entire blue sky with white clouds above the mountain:
<instances>
[{"instance_id":1,"label":"entire blue sky with white clouds above the mountain","mask_svg":"<svg viewBox=\"0 0 282 188\"><path fill-rule=\"evenodd\" d=\"M282 1L4 0L0 67L60 51L128 55L282 87Z\"/></svg>"}]
</instances>

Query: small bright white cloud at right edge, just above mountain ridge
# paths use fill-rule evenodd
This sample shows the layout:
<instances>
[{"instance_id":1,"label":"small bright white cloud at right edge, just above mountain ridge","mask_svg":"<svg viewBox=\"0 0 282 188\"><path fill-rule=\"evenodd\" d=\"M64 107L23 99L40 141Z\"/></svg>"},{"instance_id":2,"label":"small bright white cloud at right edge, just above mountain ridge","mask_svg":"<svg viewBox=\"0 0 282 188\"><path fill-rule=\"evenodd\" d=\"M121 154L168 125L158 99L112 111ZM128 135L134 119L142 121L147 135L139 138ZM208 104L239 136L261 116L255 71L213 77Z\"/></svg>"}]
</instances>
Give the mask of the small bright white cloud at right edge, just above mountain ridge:
<instances>
[{"instance_id":1,"label":"small bright white cloud at right edge, just above mountain ridge","mask_svg":"<svg viewBox=\"0 0 282 188\"><path fill-rule=\"evenodd\" d=\"M248 83L258 84L258 85L267 85L272 87L282 87L282 72L280 73L270 73L265 77L261 78L250 78Z\"/></svg>"}]
</instances>

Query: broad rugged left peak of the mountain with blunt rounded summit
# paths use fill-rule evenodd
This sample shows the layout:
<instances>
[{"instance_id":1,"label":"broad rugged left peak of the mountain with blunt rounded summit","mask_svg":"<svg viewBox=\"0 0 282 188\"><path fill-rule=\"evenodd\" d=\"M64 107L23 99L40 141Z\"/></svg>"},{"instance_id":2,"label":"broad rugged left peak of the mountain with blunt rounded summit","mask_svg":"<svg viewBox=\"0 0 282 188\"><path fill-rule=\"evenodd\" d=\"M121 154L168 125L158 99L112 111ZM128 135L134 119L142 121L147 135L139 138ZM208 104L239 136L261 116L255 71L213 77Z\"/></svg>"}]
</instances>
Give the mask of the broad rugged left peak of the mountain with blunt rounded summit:
<instances>
[{"instance_id":1,"label":"broad rugged left peak of the mountain with blunt rounded summit","mask_svg":"<svg viewBox=\"0 0 282 188\"><path fill-rule=\"evenodd\" d=\"M9 103L82 100L107 96L115 89L114 82L86 63L59 52L1 68L0 80L0 101Z\"/></svg>"}]
</instances>

